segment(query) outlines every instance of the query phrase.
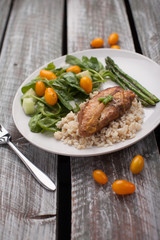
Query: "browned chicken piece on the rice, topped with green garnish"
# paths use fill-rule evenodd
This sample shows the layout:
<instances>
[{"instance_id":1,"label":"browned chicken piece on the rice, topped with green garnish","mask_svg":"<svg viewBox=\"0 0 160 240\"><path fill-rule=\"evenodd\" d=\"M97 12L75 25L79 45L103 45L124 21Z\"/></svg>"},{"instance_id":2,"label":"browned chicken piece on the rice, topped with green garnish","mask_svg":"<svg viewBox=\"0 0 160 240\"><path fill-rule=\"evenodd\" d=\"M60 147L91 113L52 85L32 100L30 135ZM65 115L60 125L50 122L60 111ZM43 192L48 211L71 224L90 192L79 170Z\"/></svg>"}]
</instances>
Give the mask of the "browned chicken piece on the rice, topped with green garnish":
<instances>
[{"instance_id":1,"label":"browned chicken piece on the rice, topped with green garnish","mask_svg":"<svg viewBox=\"0 0 160 240\"><path fill-rule=\"evenodd\" d=\"M113 96L108 104L100 102L100 97ZM78 114L80 136L90 136L121 117L131 107L135 94L121 87L112 87L99 92L90 99Z\"/></svg>"}]
</instances>

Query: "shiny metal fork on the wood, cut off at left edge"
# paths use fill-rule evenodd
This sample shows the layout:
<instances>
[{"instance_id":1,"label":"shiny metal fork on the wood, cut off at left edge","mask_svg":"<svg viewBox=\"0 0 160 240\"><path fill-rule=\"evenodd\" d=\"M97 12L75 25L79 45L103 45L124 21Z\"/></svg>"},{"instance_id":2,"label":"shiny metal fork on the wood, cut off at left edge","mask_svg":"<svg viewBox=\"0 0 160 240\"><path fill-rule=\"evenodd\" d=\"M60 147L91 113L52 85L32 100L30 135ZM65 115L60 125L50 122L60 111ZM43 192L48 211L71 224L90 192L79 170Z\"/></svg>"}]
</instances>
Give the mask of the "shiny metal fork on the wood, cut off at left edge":
<instances>
[{"instance_id":1,"label":"shiny metal fork on the wood, cut off at left edge","mask_svg":"<svg viewBox=\"0 0 160 240\"><path fill-rule=\"evenodd\" d=\"M47 190L54 191L56 189L55 184L52 180L44 174L40 169L38 169L33 163L31 163L10 141L11 135L9 132L0 124L0 144L6 144L13 149L13 151L20 157L22 162L28 168L28 170L32 173L35 179Z\"/></svg>"}]
</instances>

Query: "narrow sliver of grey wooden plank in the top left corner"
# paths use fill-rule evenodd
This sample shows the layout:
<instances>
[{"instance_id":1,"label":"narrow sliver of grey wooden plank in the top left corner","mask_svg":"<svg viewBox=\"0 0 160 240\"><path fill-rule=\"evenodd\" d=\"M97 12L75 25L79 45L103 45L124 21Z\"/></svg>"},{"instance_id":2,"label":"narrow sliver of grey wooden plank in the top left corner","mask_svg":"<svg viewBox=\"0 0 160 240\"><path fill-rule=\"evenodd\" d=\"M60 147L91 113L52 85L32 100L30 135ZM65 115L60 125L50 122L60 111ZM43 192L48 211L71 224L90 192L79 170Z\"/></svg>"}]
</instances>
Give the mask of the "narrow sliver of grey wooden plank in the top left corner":
<instances>
[{"instance_id":1,"label":"narrow sliver of grey wooden plank in the top left corner","mask_svg":"<svg viewBox=\"0 0 160 240\"><path fill-rule=\"evenodd\" d=\"M0 43L3 38L7 17L10 11L12 0L1 0L0 1ZM2 44L2 43L1 43Z\"/></svg>"}]
</instances>

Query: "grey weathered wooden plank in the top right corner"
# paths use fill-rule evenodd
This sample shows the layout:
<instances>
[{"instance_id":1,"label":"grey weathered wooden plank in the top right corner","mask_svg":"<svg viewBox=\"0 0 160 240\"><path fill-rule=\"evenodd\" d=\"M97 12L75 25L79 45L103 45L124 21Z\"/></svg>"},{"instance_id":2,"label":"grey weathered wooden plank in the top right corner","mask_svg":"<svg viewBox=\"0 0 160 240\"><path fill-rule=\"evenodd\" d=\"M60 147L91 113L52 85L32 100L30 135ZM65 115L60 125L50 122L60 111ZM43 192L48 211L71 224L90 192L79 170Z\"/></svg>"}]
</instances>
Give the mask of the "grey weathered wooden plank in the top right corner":
<instances>
[{"instance_id":1,"label":"grey weathered wooden plank in the top right corner","mask_svg":"<svg viewBox=\"0 0 160 240\"><path fill-rule=\"evenodd\" d=\"M129 2L142 52L145 56L160 64L160 1L130 0Z\"/></svg>"}]
</instances>

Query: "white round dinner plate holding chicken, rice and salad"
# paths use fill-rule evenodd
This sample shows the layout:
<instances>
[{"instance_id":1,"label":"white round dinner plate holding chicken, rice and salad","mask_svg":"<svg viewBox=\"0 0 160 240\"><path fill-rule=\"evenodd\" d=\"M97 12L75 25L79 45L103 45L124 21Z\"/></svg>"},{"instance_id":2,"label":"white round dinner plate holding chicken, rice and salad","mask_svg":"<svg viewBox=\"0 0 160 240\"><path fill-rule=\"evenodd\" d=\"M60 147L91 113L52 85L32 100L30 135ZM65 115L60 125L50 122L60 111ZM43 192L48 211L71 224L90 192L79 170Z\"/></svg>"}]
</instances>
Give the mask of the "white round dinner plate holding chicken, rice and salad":
<instances>
[{"instance_id":1,"label":"white round dinner plate holding chicken, rice and salad","mask_svg":"<svg viewBox=\"0 0 160 240\"><path fill-rule=\"evenodd\" d=\"M104 65L105 58L107 56L110 56L119 65L119 67L124 70L124 72L128 73L130 76L138 80L150 92L160 98L160 66L141 54L126 50L101 48L75 52L71 53L71 55L74 55L80 59L82 56L94 56L97 57L98 60ZM61 67L66 64L65 57L66 56L62 56L50 62L54 62L56 67ZM123 148L127 148L128 146L136 143L137 141L144 138L147 134L149 134L152 130L154 130L160 123L160 103L158 103L155 107L144 108L144 122L142 124L142 129L137 132L136 136L133 139L128 139L124 142L115 143L108 147L91 147L82 150L78 150L74 146L66 145L62 141L54 139L54 137L51 135L48 136L42 133L31 132L28 126L30 117L24 114L21 107L21 88L27 82L31 81L37 75L39 75L40 70L47 65L48 63L37 69L23 82L15 95L12 106L12 116L17 129L29 142L31 142L38 148L59 155L77 157L88 157L108 154ZM115 84L111 81L107 81L102 85L102 89L111 86L115 86Z\"/></svg>"}]
</instances>

